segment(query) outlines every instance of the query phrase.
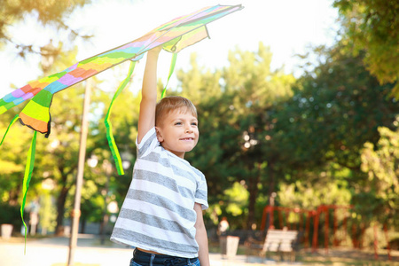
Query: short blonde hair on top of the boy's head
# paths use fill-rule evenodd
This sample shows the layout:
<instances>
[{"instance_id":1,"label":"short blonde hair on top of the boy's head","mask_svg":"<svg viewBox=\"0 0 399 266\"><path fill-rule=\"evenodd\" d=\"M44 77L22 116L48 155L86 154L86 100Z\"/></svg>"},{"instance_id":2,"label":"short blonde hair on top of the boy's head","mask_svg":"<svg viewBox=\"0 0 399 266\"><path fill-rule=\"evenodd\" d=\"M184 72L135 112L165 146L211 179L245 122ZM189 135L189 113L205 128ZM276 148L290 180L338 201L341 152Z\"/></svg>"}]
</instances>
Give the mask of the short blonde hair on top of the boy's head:
<instances>
[{"instance_id":1,"label":"short blonde hair on top of the boy's head","mask_svg":"<svg viewBox=\"0 0 399 266\"><path fill-rule=\"evenodd\" d=\"M188 98L181 96L169 96L162 98L155 109L155 126L159 126L160 123L165 119L165 115L181 109L183 113L190 112L193 116L197 116L197 108L192 104L192 101Z\"/></svg>"}]
</instances>

